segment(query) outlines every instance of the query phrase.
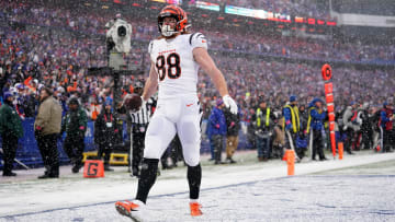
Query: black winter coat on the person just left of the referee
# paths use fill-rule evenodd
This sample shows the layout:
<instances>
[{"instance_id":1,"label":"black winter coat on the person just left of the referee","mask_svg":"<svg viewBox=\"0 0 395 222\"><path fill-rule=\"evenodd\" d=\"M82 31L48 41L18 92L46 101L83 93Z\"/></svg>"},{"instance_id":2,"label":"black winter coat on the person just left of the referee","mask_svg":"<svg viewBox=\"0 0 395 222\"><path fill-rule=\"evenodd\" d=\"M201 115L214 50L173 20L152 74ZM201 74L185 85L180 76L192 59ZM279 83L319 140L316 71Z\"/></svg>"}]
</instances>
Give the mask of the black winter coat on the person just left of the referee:
<instances>
[{"instance_id":1,"label":"black winter coat on the person just left of the referee","mask_svg":"<svg viewBox=\"0 0 395 222\"><path fill-rule=\"evenodd\" d=\"M113 147L120 142L121 126L115 114L105 114L103 109L94 122L94 142L100 145Z\"/></svg>"}]
</instances>

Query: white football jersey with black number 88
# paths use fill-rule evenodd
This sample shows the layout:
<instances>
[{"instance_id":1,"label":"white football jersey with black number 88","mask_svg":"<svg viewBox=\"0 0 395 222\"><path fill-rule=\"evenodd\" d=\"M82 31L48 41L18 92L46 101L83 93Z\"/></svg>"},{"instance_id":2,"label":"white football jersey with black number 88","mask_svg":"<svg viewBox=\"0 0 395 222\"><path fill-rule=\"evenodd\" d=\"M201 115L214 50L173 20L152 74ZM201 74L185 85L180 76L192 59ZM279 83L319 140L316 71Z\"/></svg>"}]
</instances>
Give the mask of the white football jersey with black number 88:
<instances>
[{"instance_id":1,"label":"white football jersey with black number 88","mask_svg":"<svg viewBox=\"0 0 395 222\"><path fill-rule=\"evenodd\" d=\"M206 38L201 33L149 43L148 52L159 75L159 100L183 95L196 96L199 65L192 54L195 47L207 48Z\"/></svg>"}]
</instances>

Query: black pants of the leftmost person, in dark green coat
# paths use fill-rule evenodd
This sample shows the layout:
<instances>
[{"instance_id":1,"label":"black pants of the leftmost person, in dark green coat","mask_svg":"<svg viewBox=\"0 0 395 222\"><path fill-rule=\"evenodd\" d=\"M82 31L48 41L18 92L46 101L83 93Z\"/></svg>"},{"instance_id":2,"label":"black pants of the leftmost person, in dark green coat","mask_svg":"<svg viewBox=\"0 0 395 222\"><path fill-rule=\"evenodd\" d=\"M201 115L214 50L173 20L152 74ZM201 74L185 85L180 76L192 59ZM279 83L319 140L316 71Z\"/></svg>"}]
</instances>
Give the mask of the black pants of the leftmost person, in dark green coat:
<instances>
[{"instance_id":1,"label":"black pants of the leftmost person, in dark green coat","mask_svg":"<svg viewBox=\"0 0 395 222\"><path fill-rule=\"evenodd\" d=\"M10 174L16 155L18 137L7 135L1 138L4 159L3 174Z\"/></svg>"}]
</instances>

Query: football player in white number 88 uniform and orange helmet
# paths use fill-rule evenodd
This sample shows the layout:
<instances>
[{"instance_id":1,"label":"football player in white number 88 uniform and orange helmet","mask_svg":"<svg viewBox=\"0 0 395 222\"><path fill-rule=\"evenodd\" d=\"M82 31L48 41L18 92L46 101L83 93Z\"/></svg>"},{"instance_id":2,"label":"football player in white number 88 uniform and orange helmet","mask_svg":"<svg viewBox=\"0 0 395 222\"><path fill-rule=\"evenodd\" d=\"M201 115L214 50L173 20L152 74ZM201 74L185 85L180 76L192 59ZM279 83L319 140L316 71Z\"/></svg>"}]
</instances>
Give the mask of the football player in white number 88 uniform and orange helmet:
<instances>
[{"instance_id":1,"label":"football player in white number 88 uniform and orange helmet","mask_svg":"<svg viewBox=\"0 0 395 222\"><path fill-rule=\"evenodd\" d=\"M201 33L189 33L185 12L177 5L165 7L158 16L160 37L148 47L151 67L142 96L146 102L158 92L157 109L145 138L144 160L136 199L119 201L116 210L135 221L143 219L144 206L153 187L158 162L178 133L188 165L191 215L201 215L199 192L202 178L200 165L202 117L198 93L198 71L207 73L223 97L224 104L237 114L237 104L229 96L223 73L207 52L207 40Z\"/></svg>"}]
</instances>

